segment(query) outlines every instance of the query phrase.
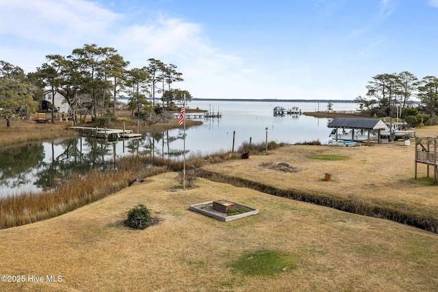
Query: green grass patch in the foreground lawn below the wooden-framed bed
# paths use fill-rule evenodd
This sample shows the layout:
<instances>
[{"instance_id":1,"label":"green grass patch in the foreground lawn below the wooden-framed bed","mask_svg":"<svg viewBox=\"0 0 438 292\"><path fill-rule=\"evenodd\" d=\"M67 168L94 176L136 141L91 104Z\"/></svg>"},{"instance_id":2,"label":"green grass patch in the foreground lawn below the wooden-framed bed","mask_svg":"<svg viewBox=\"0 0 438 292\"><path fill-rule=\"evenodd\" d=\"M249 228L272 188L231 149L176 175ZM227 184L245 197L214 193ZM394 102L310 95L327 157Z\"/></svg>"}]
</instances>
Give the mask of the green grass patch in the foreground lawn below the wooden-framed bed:
<instances>
[{"instance_id":1,"label":"green grass patch in the foreground lawn below the wooden-framed bed","mask_svg":"<svg viewBox=\"0 0 438 292\"><path fill-rule=\"evenodd\" d=\"M245 252L232 265L232 271L246 276L273 276L295 267L295 258L277 250Z\"/></svg>"}]
</instances>

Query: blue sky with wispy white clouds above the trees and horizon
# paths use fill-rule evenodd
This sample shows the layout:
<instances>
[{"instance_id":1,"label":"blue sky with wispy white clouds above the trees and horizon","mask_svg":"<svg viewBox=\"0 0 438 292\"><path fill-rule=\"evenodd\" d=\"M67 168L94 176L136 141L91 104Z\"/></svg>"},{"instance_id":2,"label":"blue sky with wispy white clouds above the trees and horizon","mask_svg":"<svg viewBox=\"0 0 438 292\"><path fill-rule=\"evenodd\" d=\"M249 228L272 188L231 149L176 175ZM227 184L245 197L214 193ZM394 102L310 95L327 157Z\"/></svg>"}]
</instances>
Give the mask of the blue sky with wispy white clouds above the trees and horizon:
<instances>
[{"instance_id":1,"label":"blue sky with wispy white clouds above the trees and horizon","mask_svg":"<svg viewBox=\"0 0 438 292\"><path fill-rule=\"evenodd\" d=\"M372 77L438 76L438 0L0 0L0 60L113 47L175 64L195 98L353 100Z\"/></svg>"}]
</instances>

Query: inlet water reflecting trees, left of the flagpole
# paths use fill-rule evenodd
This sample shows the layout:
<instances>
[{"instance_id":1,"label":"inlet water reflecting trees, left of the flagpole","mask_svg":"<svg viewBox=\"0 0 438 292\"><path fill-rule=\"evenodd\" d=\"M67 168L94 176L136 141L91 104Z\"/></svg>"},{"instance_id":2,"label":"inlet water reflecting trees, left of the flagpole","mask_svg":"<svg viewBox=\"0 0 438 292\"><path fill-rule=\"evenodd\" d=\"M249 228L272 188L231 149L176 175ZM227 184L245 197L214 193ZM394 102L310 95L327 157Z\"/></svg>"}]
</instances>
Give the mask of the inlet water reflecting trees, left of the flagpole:
<instances>
[{"instance_id":1,"label":"inlet water reflecting trees, left of the flagpole","mask_svg":"<svg viewBox=\"0 0 438 292\"><path fill-rule=\"evenodd\" d=\"M146 133L142 139L105 142L92 137L58 138L0 150L0 197L50 189L73 172L114 170L118 157L159 155L171 159L182 149L170 148L183 131Z\"/></svg>"}]
</instances>

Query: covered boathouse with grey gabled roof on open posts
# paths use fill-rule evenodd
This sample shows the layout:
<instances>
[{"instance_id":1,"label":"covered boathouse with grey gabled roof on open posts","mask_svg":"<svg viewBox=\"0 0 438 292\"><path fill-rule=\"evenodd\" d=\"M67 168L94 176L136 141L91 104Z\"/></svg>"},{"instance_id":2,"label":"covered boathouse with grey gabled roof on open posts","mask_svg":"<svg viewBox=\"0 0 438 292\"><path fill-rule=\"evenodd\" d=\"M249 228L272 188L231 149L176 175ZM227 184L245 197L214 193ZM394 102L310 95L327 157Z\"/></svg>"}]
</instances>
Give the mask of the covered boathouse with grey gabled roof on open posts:
<instances>
[{"instance_id":1,"label":"covered boathouse with grey gabled roof on open posts","mask_svg":"<svg viewBox=\"0 0 438 292\"><path fill-rule=\"evenodd\" d=\"M358 142L381 142L381 131L387 129L386 124L378 118L334 118L327 127L333 128L330 137L336 141Z\"/></svg>"}]
</instances>

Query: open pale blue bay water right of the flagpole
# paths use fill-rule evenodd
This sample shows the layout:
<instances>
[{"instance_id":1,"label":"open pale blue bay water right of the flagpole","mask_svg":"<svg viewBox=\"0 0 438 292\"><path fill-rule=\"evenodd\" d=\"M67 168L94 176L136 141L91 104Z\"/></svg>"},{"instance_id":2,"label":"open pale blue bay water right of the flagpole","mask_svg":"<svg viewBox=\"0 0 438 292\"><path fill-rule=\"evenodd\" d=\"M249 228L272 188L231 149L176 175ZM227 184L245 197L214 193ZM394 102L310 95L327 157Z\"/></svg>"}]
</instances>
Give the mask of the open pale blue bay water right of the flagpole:
<instances>
[{"instance_id":1,"label":"open pale blue bay water right of the flagpole","mask_svg":"<svg viewBox=\"0 0 438 292\"><path fill-rule=\"evenodd\" d=\"M250 137L254 143L265 142L266 128L268 128L268 141L291 144L318 139L321 142L327 142L331 132L331 129L327 128L329 119L326 118L304 115L298 118L275 117L272 114L276 106L299 107L301 111L318 111L318 103L193 101L188 106L211 109L214 112L220 111L223 114L222 118L205 120L202 126L186 131L185 146L190 150L201 152L212 152L220 148L231 150L234 131L235 149L242 142L248 142ZM326 103L320 103L319 108L323 111L326 110L326 106ZM355 103L335 103L333 110L355 110L356 106ZM180 142L177 144L181 144Z\"/></svg>"}]
</instances>

